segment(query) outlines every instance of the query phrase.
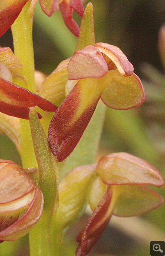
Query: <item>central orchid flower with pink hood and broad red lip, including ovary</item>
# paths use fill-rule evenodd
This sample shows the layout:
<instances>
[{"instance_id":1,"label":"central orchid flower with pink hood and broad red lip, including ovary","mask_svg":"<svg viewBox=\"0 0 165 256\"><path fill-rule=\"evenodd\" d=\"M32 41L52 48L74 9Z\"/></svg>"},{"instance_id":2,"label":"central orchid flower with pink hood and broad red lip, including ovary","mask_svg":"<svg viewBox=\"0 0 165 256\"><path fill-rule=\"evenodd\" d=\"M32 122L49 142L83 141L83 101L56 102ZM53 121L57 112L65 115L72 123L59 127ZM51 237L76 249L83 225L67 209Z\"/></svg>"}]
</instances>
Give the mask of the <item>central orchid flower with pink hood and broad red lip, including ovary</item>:
<instances>
[{"instance_id":1,"label":"central orchid flower with pink hood and broad red lip, including ovary","mask_svg":"<svg viewBox=\"0 0 165 256\"><path fill-rule=\"evenodd\" d=\"M91 4L87 5L82 18L80 41L84 38L82 30L88 6ZM50 149L58 161L64 160L74 150L100 98L114 109L140 106L145 99L141 81L133 73L132 64L118 47L110 44L97 43L75 51L73 57L61 62L43 83L41 97L49 99L48 88L51 90L53 82L57 85L54 91L62 87L62 82L66 83L66 99L53 116L48 133ZM63 97L64 87L60 97ZM56 96L52 102L55 104Z\"/></svg>"}]
</instances>

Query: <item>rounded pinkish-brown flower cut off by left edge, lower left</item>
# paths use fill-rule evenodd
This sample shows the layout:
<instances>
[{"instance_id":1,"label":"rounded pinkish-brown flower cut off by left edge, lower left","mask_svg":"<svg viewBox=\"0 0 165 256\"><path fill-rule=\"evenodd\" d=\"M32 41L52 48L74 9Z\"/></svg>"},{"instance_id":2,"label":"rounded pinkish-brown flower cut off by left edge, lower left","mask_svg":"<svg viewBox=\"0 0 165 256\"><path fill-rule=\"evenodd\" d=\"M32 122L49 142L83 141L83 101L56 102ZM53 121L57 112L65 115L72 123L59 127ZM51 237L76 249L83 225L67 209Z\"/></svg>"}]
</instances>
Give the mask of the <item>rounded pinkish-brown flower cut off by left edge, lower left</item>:
<instances>
[{"instance_id":1,"label":"rounded pinkish-brown flower cut off by left edge, lower left","mask_svg":"<svg viewBox=\"0 0 165 256\"><path fill-rule=\"evenodd\" d=\"M39 221L42 210L43 194L25 170L12 161L0 160L0 242L25 236Z\"/></svg>"}]
</instances>

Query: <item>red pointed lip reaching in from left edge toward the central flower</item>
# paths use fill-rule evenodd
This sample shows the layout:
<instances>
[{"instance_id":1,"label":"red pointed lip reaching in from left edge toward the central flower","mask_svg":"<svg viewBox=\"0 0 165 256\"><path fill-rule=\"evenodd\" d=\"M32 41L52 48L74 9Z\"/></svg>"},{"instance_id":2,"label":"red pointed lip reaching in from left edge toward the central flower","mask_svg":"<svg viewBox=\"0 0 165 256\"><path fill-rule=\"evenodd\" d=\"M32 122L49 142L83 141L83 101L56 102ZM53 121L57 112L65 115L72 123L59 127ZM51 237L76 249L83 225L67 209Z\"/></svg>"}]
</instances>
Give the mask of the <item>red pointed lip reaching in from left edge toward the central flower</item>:
<instances>
[{"instance_id":1,"label":"red pointed lip reaching in from left edge toward the central flower","mask_svg":"<svg viewBox=\"0 0 165 256\"><path fill-rule=\"evenodd\" d=\"M29 118L29 108L39 106L44 111L55 112L57 107L29 90L0 78L0 112L23 119ZM41 118L41 115L39 115Z\"/></svg>"}]
</instances>

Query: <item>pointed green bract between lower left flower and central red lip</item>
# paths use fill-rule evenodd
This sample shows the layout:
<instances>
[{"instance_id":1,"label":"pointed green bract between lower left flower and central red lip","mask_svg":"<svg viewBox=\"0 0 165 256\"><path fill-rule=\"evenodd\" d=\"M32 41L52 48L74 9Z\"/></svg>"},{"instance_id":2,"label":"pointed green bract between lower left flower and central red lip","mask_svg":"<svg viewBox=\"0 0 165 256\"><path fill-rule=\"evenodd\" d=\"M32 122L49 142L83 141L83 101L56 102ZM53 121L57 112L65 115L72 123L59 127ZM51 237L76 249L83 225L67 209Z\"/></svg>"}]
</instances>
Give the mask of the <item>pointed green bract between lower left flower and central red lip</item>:
<instances>
[{"instance_id":1,"label":"pointed green bract between lower left flower and central red lip","mask_svg":"<svg viewBox=\"0 0 165 256\"><path fill-rule=\"evenodd\" d=\"M52 212L58 191L58 162L49 149L47 137L34 108L30 110L29 123L39 168L39 183L44 195L44 207Z\"/></svg>"}]
</instances>

